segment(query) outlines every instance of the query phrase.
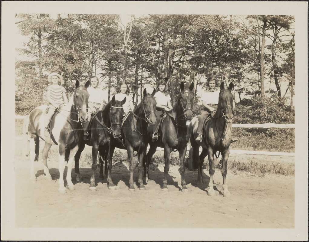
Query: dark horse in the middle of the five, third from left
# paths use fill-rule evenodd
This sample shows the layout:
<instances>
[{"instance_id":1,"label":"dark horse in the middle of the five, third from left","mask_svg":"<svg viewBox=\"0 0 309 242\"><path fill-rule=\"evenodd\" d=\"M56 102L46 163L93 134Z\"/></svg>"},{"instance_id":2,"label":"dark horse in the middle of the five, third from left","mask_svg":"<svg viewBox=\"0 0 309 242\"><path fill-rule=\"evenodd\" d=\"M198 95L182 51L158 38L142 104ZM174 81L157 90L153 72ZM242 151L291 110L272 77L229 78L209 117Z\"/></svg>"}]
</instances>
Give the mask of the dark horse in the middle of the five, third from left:
<instances>
[{"instance_id":1,"label":"dark horse in the middle of the five, third from left","mask_svg":"<svg viewBox=\"0 0 309 242\"><path fill-rule=\"evenodd\" d=\"M147 145L149 143L149 136L147 135L148 124L150 126L155 125L155 106L156 101L154 98L155 90L152 94L148 94L146 89L143 92L143 99L138 104L136 110L130 113L127 119L124 121L121 128L121 136L123 138L122 142L116 139L111 140L110 150L105 152L100 151L100 155L105 160L105 174L107 174L108 188L116 188L112 182L112 155L115 148L126 149L128 151L128 158L130 162L130 180L129 180L129 190L135 191L133 183L133 152L136 151L138 154L138 183L140 184L140 189L146 189L142 180L143 172L143 158L146 155ZM101 157L100 156L100 157ZM100 174L103 176L103 161L100 161Z\"/></svg>"}]
</instances>

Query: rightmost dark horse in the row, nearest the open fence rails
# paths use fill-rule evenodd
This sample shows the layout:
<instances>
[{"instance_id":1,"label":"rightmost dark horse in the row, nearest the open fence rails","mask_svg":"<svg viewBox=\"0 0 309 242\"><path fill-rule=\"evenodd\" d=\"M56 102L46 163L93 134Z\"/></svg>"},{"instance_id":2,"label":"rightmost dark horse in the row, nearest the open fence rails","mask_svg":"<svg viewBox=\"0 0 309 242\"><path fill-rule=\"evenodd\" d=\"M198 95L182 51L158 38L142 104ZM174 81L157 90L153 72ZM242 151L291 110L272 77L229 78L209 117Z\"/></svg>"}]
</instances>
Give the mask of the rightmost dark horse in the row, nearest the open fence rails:
<instances>
[{"instance_id":1,"label":"rightmost dark horse in the row, nearest the open fence rails","mask_svg":"<svg viewBox=\"0 0 309 242\"><path fill-rule=\"evenodd\" d=\"M233 88L233 83L231 82L228 88L224 87L224 82L220 85L219 103L218 109L215 115L211 115L210 119L205 123L203 128L203 144L201 155L199 154L200 145L195 141L197 136L197 126L198 119L195 117L192 119L189 126L190 141L193 148L193 161L197 165L197 184L201 185L203 181L203 162L205 157L208 155L209 161L209 190L208 195L215 195L214 192L214 154L219 151L222 154L222 177L223 177L223 196L229 196L230 192L227 190L226 184L226 165L227 159L230 154L230 144L231 144L231 122L233 118L233 95L231 90Z\"/></svg>"}]
</instances>

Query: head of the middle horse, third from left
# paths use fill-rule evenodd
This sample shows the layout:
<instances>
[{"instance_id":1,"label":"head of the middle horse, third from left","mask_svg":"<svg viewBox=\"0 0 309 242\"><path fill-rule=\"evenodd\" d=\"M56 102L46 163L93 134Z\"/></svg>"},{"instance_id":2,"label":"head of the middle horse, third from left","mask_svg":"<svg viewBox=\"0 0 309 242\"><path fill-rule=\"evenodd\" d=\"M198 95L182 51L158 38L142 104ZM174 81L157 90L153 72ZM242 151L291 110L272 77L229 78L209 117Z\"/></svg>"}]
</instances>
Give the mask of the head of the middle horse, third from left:
<instances>
[{"instance_id":1,"label":"head of the middle horse, third from left","mask_svg":"<svg viewBox=\"0 0 309 242\"><path fill-rule=\"evenodd\" d=\"M146 117L146 122L150 124L150 126L155 125L157 119L155 117L155 110L156 110L156 104L154 95L155 95L155 89L152 92L152 94L147 93L146 88L143 92L144 96L142 99L142 109L144 112L144 115Z\"/></svg>"}]
</instances>

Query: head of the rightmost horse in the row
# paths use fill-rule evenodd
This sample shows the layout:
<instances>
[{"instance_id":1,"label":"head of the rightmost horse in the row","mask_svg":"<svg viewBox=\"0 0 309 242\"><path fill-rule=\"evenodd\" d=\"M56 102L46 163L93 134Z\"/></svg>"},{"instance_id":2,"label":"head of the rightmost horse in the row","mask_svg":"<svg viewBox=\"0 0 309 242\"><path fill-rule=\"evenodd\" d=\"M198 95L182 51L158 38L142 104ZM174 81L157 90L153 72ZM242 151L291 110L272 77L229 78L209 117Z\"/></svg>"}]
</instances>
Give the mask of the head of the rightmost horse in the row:
<instances>
[{"instance_id":1,"label":"head of the rightmost horse in the row","mask_svg":"<svg viewBox=\"0 0 309 242\"><path fill-rule=\"evenodd\" d=\"M232 122L233 118L233 94L231 90L233 89L233 83L231 82L228 88L224 87L224 82L221 82L220 85L220 94L219 94L219 103L218 110L222 112L222 116L224 117L227 123Z\"/></svg>"}]
</instances>

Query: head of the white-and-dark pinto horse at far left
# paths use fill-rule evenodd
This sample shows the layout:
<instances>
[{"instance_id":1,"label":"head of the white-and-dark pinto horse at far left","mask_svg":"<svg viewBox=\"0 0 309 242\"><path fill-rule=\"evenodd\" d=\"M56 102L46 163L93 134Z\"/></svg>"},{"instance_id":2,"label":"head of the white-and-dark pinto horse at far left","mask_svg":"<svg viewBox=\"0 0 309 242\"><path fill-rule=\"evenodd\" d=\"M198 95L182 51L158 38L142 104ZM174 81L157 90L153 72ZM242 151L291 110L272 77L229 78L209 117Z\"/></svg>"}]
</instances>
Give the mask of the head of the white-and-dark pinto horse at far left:
<instances>
[{"instance_id":1,"label":"head of the white-and-dark pinto horse at far left","mask_svg":"<svg viewBox=\"0 0 309 242\"><path fill-rule=\"evenodd\" d=\"M78 114L78 119L85 123L88 119L88 98L89 93L87 92L87 87L89 86L90 82L87 81L85 86L79 85L79 81L76 81L75 86L76 90L73 94L73 103Z\"/></svg>"}]
</instances>

